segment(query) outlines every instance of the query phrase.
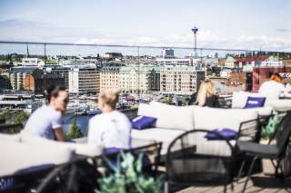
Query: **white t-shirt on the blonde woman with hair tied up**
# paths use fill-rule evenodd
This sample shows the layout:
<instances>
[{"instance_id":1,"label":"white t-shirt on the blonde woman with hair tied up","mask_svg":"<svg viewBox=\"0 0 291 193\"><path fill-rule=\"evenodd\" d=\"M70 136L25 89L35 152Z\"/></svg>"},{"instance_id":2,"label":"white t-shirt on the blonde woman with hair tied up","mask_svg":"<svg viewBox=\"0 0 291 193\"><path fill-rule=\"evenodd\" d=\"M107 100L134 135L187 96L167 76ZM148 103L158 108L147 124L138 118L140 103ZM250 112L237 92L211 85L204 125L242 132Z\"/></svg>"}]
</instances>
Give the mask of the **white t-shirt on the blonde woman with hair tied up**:
<instances>
[{"instance_id":1,"label":"white t-shirt on the blonde woman with hair tied up","mask_svg":"<svg viewBox=\"0 0 291 193\"><path fill-rule=\"evenodd\" d=\"M127 117L112 111L95 115L89 121L88 143L98 143L105 148L129 149L131 123Z\"/></svg>"}]
</instances>

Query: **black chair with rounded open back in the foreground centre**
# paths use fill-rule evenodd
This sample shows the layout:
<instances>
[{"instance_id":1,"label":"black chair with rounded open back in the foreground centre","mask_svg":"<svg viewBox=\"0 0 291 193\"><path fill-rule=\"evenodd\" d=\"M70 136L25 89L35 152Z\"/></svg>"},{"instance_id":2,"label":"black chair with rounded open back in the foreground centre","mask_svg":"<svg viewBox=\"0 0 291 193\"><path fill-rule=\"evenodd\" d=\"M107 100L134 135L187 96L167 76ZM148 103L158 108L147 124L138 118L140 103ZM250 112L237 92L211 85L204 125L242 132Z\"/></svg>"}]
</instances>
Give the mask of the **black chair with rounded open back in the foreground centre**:
<instances>
[{"instance_id":1,"label":"black chair with rounded open back in the foreground centre","mask_svg":"<svg viewBox=\"0 0 291 193\"><path fill-rule=\"evenodd\" d=\"M214 133L219 137L217 144L224 145L226 155L209 152L211 141L206 140L207 133ZM190 186L226 186L231 184L235 168L234 147L230 140L226 140L216 131L190 130L178 136L168 147L166 154L166 192L173 192L174 186L186 188ZM172 188L174 187L174 188Z\"/></svg>"}]
</instances>

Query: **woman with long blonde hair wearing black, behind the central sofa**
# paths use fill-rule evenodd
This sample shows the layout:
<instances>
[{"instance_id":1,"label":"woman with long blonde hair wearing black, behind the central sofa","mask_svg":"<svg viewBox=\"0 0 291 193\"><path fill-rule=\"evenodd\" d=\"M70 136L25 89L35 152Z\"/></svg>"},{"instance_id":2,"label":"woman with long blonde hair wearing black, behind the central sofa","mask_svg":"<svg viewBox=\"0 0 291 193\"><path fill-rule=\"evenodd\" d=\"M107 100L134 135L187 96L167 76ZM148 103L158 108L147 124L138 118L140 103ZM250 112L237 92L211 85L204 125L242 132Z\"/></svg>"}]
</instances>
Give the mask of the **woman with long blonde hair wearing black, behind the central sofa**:
<instances>
[{"instance_id":1,"label":"woman with long blonde hair wearing black, behind the central sofa","mask_svg":"<svg viewBox=\"0 0 291 193\"><path fill-rule=\"evenodd\" d=\"M210 80L202 82L198 93L195 92L191 95L189 104L219 108L219 101L214 83Z\"/></svg>"}]
</instances>

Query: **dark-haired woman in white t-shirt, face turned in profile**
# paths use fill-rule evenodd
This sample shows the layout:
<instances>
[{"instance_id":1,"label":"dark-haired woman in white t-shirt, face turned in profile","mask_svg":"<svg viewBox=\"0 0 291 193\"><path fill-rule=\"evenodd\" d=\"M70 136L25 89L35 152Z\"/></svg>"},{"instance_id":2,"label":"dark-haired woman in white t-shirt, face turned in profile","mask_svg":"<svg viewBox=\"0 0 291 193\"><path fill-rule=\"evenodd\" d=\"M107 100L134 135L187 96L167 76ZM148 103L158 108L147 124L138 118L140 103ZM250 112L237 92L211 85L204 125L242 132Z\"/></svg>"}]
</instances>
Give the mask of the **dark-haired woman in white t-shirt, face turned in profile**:
<instances>
[{"instance_id":1,"label":"dark-haired woman in white t-shirt, face turned in profile","mask_svg":"<svg viewBox=\"0 0 291 193\"><path fill-rule=\"evenodd\" d=\"M47 102L29 117L25 131L49 139L64 141L62 115L65 114L68 94L65 87L52 85L47 89Z\"/></svg>"}]
</instances>

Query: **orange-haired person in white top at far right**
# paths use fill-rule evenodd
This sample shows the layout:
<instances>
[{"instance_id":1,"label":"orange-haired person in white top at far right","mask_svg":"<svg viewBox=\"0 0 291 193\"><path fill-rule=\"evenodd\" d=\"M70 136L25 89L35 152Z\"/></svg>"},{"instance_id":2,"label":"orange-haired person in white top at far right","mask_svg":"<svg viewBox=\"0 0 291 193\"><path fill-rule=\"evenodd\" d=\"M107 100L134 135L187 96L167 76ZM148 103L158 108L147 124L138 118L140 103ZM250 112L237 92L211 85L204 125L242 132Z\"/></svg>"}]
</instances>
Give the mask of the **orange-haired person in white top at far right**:
<instances>
[{"instance_id":1,"label":"orange-haired person in white top at far right","mask_svg":"<svg viewBox=\"0 0 291 193\"><path fill-rule=\"evenodd\" d=\"M280 94L283 93L286 88L282 83L283 78L279 73L273 73L270 76L270 80L263 82L258 92L266 95L269 99L278 99Z\"/></svg>"}]
</instances>

